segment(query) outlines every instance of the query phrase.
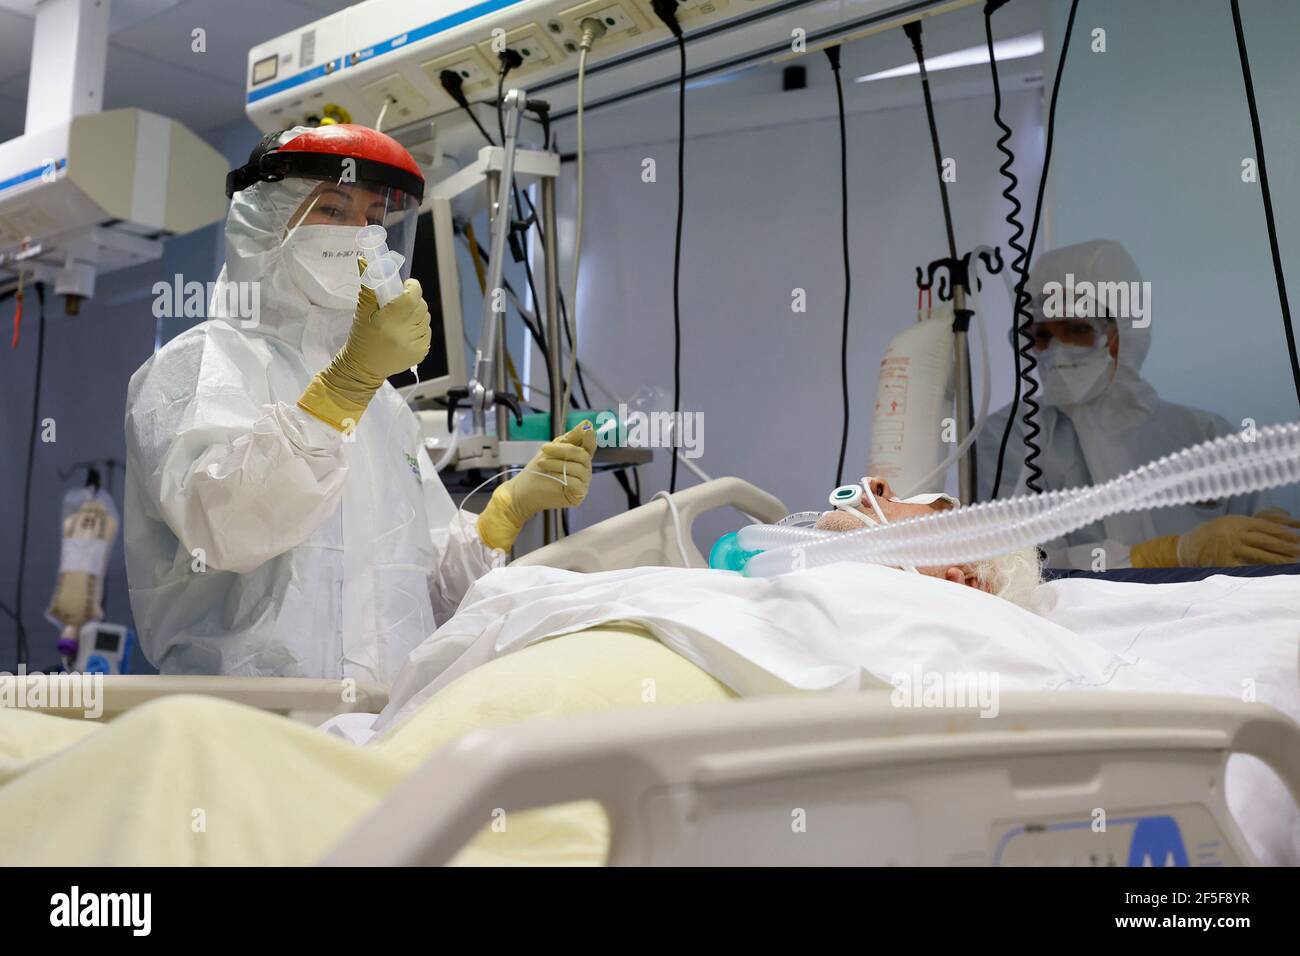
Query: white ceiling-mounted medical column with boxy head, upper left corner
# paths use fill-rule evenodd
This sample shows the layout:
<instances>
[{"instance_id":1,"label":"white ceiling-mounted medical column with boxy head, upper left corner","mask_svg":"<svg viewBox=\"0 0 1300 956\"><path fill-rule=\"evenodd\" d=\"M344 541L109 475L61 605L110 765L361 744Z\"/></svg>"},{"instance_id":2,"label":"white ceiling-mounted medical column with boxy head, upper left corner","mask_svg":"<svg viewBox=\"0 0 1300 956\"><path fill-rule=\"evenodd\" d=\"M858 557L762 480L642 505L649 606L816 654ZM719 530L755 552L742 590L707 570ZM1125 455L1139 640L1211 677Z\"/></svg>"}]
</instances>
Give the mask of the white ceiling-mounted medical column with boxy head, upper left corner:
<instances>
[{"instance_id":1,"label":"white ceiling-mounted medical column with boxy head, upper left corner","mask_svg":"<svg viewBox=\"0 0 1300 956\"><path fill-rule=\"evenodd\" d=\"M69 312L99 273L157 259L162 239L225 216L228 165L183 125L101 112L104 0L43 0L23 134L0 143L0 285L47 282Z\"/></svg>"}]
</instances>

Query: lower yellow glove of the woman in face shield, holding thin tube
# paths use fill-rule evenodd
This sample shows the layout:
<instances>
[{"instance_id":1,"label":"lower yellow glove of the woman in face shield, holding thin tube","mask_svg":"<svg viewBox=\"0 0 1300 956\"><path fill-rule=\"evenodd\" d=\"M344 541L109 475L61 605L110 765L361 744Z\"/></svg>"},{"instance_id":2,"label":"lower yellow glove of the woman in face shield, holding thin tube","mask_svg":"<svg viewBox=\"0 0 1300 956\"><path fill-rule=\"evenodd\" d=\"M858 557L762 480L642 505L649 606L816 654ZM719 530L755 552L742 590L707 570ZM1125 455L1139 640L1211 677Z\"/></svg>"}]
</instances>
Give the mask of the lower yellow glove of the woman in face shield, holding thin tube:
<instances>
[{"instance_id":1,"label":"lower yellow glove of the woman in face shield, holding thin tube","mask_svg":"<svg viewBox=\"0 0 1300 956\"><path fill-rule=\"evenodd\" d=\"M508 551L529 518L538 511L581 505L592 484L595 431L590 421L542 445L519 475L493 492L478 515L478 537Z\"/></svg>"}]
</instances>

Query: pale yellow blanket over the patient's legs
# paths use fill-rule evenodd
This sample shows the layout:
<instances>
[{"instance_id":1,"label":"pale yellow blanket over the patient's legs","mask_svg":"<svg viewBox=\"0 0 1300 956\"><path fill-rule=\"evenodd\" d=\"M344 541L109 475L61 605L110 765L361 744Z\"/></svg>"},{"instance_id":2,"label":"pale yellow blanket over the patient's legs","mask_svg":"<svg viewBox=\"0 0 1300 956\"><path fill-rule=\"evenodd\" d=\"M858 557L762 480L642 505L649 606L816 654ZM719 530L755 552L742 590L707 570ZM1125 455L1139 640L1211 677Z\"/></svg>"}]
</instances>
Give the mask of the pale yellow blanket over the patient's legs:
<instances>
[{"instance_id":1,"label":"pale yellow blanket over the patient's legs","mask_svg":"<svg viewBox=\"0 0 1300 956\"><path fill-rule=\"evenodd\" d=\"M162 698L109 724L0 709L0 864L311 864L471 730L731 696L615 624L498 658L364 748L205 697ZM601 864L608 844L589 803L484 823L456 862Z\"/></svg>"}]
</instances>

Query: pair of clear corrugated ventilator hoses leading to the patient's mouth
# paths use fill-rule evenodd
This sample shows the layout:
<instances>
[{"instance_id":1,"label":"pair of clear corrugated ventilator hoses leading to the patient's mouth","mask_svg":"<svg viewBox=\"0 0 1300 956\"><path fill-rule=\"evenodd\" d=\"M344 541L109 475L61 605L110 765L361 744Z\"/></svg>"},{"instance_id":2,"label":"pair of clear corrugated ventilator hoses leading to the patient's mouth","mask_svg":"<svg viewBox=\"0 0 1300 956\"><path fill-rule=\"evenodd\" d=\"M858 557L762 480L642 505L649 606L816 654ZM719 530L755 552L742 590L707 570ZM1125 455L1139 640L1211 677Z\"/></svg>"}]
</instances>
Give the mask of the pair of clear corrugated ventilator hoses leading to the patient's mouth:
<instances>
[{"instance_id":1,"label":"pair of clear corrugated ventilator hoses leading to the patient's mouth","mask_svg":"<svg viewBox=\"0 0 1300 956\"><path fill-rule=\"evenodd\" d=\"M1225 436L1091 488L1026 494L853 532L753 524L736 536L745 574L863 561L961 564L1052 541L1108 515L1261 492L1300 481L1300 423Z\"/></svg>"}]
</instances>

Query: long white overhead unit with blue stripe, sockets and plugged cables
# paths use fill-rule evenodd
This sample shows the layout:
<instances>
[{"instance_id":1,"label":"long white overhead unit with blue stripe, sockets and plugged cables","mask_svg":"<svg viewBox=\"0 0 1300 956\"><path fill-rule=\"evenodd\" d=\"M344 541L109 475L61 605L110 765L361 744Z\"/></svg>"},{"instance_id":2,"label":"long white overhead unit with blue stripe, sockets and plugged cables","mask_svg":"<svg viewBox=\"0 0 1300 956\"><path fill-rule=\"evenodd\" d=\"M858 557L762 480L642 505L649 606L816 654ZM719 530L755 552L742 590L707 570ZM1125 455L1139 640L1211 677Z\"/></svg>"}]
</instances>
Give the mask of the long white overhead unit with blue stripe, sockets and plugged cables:
<instances>
[{"instance_id":1,"label":"long white overhead unit with blue stripe, sockets and plugged cables","mask_svg":"<svg viewBox=\"0 0 1300 956\"><path fill-rule=\"evenodd\" d=\"M836 39L887 30L976 0L688 0L677 20L690 42L690 75L736 69ZM597 108L671 86L676 44L651 0L365 0L248 52L248 117L264 133L320 118L373 125L408 147L428 142L439 120L439 153L477 148L469 121L443 86L450 70L471 103L495 101L497 52L523 62L510 86L545 98L562 118L576 101L578 23L606 34L586 68L586 104ZM456 131L456 133L454 133ZM446 137L446 139L443 139ZM419 157L417 157L419 159Z\"/></svg>"}]
</instances>

